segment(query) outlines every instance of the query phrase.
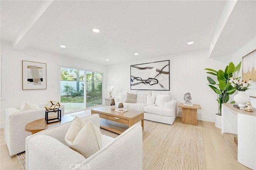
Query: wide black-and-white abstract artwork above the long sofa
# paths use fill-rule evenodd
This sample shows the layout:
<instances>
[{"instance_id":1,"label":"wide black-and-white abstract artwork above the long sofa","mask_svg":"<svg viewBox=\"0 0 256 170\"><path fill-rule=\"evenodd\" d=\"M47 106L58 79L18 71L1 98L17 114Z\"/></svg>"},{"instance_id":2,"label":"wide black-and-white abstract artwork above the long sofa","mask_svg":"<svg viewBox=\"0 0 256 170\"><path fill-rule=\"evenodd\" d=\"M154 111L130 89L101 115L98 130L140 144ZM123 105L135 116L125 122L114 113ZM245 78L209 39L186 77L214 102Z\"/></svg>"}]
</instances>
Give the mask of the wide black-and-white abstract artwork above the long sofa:
<instances>
[{"instance_id":1,"label":"wide black-and-white abstract artwork above the long sofa","mask_svg":"<svg viewBox=\"0 0 256 170\"><path fill-rule=\"evenodd\" d=\"M170 90L170 60L131 65L131 90Z\"/></svg>"}]
</instances>

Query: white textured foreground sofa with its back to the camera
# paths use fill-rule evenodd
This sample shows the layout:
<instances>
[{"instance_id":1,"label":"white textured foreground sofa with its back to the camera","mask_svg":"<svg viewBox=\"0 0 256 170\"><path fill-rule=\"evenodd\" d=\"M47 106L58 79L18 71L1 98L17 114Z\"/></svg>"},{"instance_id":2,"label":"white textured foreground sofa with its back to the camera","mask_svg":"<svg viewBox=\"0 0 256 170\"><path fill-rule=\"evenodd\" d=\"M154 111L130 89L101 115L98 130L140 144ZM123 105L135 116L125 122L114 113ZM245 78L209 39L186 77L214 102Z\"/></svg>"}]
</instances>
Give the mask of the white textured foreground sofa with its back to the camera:
<instances>
[{"instance_id":1,"label":"white textured foreground sofa with its back to the camera","mask_svg":"<svg viewBox=\"0 0 256 170\"><path fill-rule=\"evenodd\" d=\"M100 128L98 114L82 118ZM49 169L142 169L142 127L133 125L116 137L102 135L102 149L87 159L68 147L65 135L72 122L35 133L26 138L26 170Z\"/></svg>"}]
</instances>

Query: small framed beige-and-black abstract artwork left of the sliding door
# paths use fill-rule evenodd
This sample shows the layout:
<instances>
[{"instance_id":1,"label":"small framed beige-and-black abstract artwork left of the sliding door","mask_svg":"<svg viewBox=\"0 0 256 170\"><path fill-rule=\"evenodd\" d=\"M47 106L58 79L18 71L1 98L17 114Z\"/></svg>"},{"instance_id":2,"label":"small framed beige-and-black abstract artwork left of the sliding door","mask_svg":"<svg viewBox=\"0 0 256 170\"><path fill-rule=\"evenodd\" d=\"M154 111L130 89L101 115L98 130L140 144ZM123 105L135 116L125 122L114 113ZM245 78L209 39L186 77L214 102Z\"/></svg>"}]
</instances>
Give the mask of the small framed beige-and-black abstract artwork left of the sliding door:
<instances>
[{"instance_id":1,"label":"small framed beige-and-black abstract artwork left of the sliding door","mask_svg":"<svg viewBox=\"0 0 256 170\"><path fill-rule=\"evenodd\" d=\"M46 89L46 63L22 60L22 89Z\"/></svg>"}]
</instances>

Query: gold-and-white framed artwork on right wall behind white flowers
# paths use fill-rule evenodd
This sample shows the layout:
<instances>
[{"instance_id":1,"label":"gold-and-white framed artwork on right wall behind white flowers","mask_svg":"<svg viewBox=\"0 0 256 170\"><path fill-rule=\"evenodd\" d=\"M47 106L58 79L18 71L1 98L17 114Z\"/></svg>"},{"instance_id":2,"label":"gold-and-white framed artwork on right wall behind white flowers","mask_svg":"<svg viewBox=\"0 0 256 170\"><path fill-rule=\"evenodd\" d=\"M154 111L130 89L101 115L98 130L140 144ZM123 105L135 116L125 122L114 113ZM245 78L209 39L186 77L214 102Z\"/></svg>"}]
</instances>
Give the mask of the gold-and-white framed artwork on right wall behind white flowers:
<instances>
[{"instance_id":1,"label":"gold-and-white framed artwork on right wall behind white flowers","mask_svg":"<svg viewBox=\"0 0 256 170\"><path fill-rule=\"evenodd\" d=\"M256 49L242 57L242 80L252 80L250 90L246 90L252 98L256 98Z\"/></svg>"}]
</instances>

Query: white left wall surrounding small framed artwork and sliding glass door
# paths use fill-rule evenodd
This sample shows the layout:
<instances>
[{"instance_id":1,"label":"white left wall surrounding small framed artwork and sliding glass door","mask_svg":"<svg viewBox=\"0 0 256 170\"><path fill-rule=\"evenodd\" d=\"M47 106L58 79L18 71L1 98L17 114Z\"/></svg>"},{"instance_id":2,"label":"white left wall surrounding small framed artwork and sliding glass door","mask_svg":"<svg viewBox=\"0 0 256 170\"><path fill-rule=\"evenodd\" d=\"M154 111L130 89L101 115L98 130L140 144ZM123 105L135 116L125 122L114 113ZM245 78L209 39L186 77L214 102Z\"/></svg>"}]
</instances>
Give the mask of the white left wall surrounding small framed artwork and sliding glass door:
<instances>
[{"instance_id":1,"label":"white left wall surrounding small framed artwork and sliding glass door","mask_svg":"<svg viewBox=\"0 0 256 170\"><path fill-rule=\"evenodd\" d=\"M32 104L42 102L47 104L49 100L60 101L60 66L103 72L103 74L106 73L106 66L104 65L89 63L87 61L31 48L16 51L12 49L11 44L4 42L1 42L1 55L6 56L6 100L0 101L1 128L4 122L4 108L20 106L23 101ZM47 89L22 90L22 60L46 63Z\"/></svg>"}]
</instances>

